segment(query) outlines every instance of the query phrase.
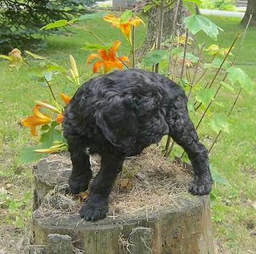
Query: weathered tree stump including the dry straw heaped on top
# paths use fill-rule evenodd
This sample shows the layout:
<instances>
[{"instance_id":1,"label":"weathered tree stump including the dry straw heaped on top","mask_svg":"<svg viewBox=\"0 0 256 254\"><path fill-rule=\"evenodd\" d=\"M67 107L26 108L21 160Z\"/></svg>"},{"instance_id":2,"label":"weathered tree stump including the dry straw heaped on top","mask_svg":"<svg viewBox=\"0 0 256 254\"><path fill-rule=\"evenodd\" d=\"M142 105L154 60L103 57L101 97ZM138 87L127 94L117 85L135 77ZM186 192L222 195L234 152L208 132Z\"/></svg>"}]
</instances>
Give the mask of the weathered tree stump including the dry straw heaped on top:
<instances>
[{"instance_id":1,"label":"weathered tree stump including the dry straw heaped on top","mask_svg":"<svg viewBox=\"0 0 256 254\"><path fill-rule=\"evenodd\" d=\"M95 222L79 216L86 194L73 197L68 193L69 158L54 155L41 160L34 169L33 233L34 245L45 247L33 253L213 254L209 196L187 193L189 173L169 162L157 164L157 160L151 150L128 159L111 193L107 217ZM92 164L94 171L97 158ZM151 169L145 170L149 164ZM157 175L153 175L154 167ZM127 178L127 172L133 176Z\"/></svg>"}]
</instances>

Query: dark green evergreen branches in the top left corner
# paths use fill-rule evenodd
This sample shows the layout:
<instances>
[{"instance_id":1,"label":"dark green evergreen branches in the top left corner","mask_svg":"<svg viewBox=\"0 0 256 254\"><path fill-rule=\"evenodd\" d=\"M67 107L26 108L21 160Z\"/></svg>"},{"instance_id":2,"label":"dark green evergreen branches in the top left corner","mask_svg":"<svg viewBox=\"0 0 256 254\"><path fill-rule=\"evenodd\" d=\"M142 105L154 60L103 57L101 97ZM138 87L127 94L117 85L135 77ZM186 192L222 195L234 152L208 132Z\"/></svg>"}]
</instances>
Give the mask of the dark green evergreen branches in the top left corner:
<instances>
[{"instance_id":1,"label":"dark green evergreen branches in the top left corner","mask_svg":"<svg viewBox=\"0 0 256 254\"><path fill-rule=\"evenodd\" d=\"M55 31L39 31L45 23L85 13L85 5L95 0L3 0L0 1L0 48L2 53L15 47L39 43Z\"/></svg>"}]
</instances>

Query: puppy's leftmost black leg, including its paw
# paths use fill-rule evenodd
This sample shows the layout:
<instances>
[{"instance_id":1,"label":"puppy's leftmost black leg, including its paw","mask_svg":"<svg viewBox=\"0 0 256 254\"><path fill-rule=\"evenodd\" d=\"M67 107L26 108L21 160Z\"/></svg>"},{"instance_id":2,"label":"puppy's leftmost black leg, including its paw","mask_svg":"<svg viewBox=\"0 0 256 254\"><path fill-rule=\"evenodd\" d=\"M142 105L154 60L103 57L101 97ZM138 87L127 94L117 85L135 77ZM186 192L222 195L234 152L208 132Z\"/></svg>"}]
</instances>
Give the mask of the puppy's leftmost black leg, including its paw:
<instances>
[{"instance_id":1,"label":"puppy's leftmost black leg, including its paw","mask_svg":"<svg viewBox=\"0 0 256 254\"><path fill-rule=\"evenodd\" d=\"M72 161L72 173L69 178L71 193L77 194L86 191L91 180L91 164L89 155L85 152L83 142L78 138L67 139L68 149Z\"/></svg>"}]
</instances>

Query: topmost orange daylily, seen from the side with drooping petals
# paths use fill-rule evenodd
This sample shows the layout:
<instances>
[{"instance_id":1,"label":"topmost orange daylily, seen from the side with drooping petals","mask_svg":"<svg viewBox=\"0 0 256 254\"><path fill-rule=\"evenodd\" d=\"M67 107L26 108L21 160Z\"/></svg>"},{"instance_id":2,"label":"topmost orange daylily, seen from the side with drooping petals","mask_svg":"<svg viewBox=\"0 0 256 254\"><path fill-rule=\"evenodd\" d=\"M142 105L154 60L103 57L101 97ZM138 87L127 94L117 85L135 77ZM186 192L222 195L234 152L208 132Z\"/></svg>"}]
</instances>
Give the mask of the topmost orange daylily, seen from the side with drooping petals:
<instances>
[{"instance_id":1,"label":"topmost orange daylily, seen from the side with drooping petals","mask_svg":"<svg viewBox=\"0 0 256 254\"><path fill-rule=\"evenodd\" d=\"M126 39L131 43L131 26L137 27L139 23L145 23L139 17L130 17L127 21L121 23L121 19L111 14L107 14L103 19L112 23L113 27L117 27L125 35Z\"/></svg>"}]
</instances>

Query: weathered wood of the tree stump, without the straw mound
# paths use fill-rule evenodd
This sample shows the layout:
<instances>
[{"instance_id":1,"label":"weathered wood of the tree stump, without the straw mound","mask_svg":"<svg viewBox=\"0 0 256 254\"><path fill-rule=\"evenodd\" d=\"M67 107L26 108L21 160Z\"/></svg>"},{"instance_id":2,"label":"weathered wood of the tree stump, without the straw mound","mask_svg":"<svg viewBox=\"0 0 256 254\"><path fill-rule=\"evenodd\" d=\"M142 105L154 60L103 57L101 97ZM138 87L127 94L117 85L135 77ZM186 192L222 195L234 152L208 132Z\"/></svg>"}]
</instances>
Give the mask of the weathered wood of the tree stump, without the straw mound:
<instances>
[{"instance_id":1,"label":"weathered wood of the tree stump, without the straw mound","mask_svg":"<svg viewBox=\"0 0 256 254\"><path fill-rule=\"evenodd\" d=\"M214 253L209 196L183 191L175 205L90 222L79 217L82 203L67 195L70 173L71 164L54 156L34 168L34 245L45 247L33 253Z\"/></svg>"}]
</instances>

